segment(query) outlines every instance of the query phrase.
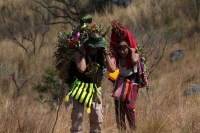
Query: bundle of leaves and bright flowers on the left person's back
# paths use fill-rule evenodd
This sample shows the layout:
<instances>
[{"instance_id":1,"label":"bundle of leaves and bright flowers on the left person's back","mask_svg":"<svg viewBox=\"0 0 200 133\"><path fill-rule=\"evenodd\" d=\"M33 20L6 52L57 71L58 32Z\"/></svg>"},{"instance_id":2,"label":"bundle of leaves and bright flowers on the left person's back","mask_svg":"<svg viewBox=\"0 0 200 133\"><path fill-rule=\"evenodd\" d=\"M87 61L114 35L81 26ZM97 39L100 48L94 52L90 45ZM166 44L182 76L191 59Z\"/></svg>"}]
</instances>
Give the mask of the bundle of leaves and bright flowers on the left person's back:
<instances>
[{"instance_id":1,"label":"bundle of leaves and bright flowers on the left person's back","mask_svg":"<svg viewBox=\"0 0 200 133\"><path fill-rule=\"evenodd\" d=\"M83 41L88 38L92 33L99 33L105 37L110 27L103 30L101 24L91 24L92 17L86 15L80 19L80 25L73 26L70 33L61 33L58 36L56 45L56 68L60 72L60 78L68 85L71 85L75 78L73 77L72 61L74 52L81 46ZM91 24L91 25L89 25Z\"/></svg>"}]
</instances>

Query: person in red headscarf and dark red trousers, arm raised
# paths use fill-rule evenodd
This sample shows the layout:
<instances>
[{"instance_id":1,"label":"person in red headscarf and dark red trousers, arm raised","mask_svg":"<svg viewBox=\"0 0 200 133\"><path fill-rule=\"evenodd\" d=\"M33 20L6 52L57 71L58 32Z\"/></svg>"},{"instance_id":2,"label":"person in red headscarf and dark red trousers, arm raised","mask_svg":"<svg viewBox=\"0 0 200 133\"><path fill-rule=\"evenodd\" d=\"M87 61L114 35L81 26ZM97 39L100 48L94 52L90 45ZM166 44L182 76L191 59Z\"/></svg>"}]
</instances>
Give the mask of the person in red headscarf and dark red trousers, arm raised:
<instances>
[{"instance_id":1,"label":"person in red headscarf and dark red trousers, arm raised","mask_svg":"<svg viewBox=\"0 0 200 133\"><path fill-rule=\"evenodd\" d=\"M110 49L119 69L119 76L113 81L111 93L114 97L117 128L119 131L126 131L127 117L130 129L136 130L135 102L138 88L147 86L148 82L134 37L119 21L113 20L111 25Z\"/></svg>"}]
</instances>

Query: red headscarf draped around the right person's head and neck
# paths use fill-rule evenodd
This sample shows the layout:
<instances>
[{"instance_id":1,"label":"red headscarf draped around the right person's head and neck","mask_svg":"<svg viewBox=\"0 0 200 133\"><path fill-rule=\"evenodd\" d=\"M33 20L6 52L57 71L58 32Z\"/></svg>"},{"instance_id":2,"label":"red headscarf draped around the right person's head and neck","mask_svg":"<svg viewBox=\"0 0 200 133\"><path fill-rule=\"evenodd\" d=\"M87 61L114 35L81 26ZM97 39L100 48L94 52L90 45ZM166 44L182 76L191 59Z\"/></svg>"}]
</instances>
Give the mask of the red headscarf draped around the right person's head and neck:
<instances>
[{"instance_id":1,"label":"red headscarf draped around the right person's head and neck","mask_svg":"<svg viewBox=\"0 0 200 133\"><path fill-rule=\"evenodd\" d=\"M112 52L113 55L115 55L116 60L118 60L118 54L116 53L116 48L117 48L117 41L119 39L124 39L129 42L129 46L131 48L136 49L136 40L134 39L133 35L128 29L125 29L125 33L123 36L117 36L114 32L111 33L111 42L110 42L110 51ZM129 69L131 68L131 53L129 52L126 60L126 68Z\"/></svg>"}]
</instances>

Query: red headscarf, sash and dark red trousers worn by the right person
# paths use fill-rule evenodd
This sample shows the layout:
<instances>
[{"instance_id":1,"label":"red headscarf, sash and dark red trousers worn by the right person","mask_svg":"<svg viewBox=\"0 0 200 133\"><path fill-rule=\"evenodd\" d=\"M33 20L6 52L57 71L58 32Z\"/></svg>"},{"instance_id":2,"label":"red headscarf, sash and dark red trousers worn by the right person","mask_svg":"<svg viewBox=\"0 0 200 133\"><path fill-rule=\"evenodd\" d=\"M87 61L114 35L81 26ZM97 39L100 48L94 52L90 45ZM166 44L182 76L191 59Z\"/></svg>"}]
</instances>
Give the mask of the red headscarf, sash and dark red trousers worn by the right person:
<instances>
[{"instance_id":1,"label":"red headscarf, sash and dark red trousers worn by the right person","mask_svg":"<svg viewBox=\"0 0 200 133\"><path fill-rule=\"evenodd\" d=\"M114 83L114 89L116 89L119 93L120 86L123 93L121 95L125 95L124 91L126 90L127 84L129 84L128 95L124 96L126 99L116 99L115 103L115 114L116 114L116 122L117 128L119 130L126 130L125 117L127 116L127 120L129 122L129 126L131 129L136 128L135 122L135 102L138 94L138 72L133 72L133 66L131 64L131 53L129 52L126 59L126 66L121 67L119 63L119 55L117 54L117 42L118 40L126 40L129 42L129 46L136 49L136 40L132 36L131 32L126 29L119 21L113 20L111 22L112 25L112 33L111 33L111 42L110 49L112 54L115 56L117 61L117 67L120 71L120 76ZM123 79L121 83L120 80ZM119 87L116 87L118 85ZM115 92L115 90L113 90ZM116 93L116 92L115 92ZM112 96L113 94L111 94Z\"/></svg>"}]
</instances>

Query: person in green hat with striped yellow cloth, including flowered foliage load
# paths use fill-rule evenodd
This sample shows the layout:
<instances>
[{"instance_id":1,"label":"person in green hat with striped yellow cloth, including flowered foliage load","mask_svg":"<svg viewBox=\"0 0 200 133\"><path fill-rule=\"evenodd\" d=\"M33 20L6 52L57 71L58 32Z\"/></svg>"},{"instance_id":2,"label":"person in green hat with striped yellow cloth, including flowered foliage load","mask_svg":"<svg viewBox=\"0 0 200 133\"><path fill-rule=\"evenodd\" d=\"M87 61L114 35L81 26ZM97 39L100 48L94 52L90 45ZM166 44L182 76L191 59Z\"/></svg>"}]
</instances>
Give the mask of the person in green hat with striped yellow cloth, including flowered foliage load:
<instances>
[{"instance_id":1,"label":"person in green hat with striped yellow cloth, including flowered foliage load","mask_svg":"<svg viewBox=\"0 0 200 133\"><path fill-rule=\"evenodd\" d=\"M100 133L103 122L101 85L105 72L116 69L115 59L106 50L105 35L101 26L91 27L92 18L84 16L80 25L73 28L70 34L59 36L59 48L56 53L56 68L60 77L71 88L69 96L73 98L71 112L71 133L81 133L83 130L84 106L89 113L90 133ZM66 43L66 44L65 44Z\"/></svg>"}]
</instances>

